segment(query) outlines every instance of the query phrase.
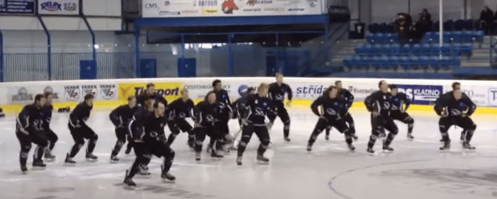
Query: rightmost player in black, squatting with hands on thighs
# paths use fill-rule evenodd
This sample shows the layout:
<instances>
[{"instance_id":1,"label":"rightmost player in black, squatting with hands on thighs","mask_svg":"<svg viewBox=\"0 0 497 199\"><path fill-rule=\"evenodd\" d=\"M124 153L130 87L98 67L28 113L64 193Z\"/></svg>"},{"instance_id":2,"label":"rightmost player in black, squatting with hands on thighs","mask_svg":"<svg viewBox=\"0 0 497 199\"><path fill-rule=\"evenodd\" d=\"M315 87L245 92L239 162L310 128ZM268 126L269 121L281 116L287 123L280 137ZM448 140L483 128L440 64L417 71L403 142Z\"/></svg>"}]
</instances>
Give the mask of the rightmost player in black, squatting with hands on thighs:
<instances>
[{"instance_id":1,"label":"rightmost player in black, squatting with hands on thighs","mask_svg":"<svg viewBox=\"0 0 497 199\"><path fill-rule=\"evenodd\" d=\"M450 126L457 125L466 130L463 137L463 148L474 150L470 145L471 138L476 129L476 124L470 118L475 112L476 105L469 98L464 98L461 90L451 92L452 95L443 95L435 101L435 112L441 116L438 120L440 133L442 134L443 146L440 150L450 149L450 138L448 130Z\"/></svg>"}]
</instances>

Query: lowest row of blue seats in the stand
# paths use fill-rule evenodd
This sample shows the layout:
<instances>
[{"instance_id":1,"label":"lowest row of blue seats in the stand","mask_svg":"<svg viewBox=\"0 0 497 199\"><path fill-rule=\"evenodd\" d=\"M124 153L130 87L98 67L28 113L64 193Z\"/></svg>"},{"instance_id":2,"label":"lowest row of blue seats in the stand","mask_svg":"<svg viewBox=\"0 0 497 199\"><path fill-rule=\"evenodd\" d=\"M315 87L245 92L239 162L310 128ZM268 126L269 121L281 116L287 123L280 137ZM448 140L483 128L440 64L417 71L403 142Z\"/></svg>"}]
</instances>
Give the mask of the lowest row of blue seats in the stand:
<instances>
[{"instance_id":1,"label":"lowest row of blue seats in the stand","mask_svg":"<svg viewBox=\"0 0 497 199\"><path fill-rule=\"evenodd\" d=\"M443 56L353 56L343 60L343 64L348 68L357 69L448 69L460 66L459 57Z\"/></svg>"}]
</instances>

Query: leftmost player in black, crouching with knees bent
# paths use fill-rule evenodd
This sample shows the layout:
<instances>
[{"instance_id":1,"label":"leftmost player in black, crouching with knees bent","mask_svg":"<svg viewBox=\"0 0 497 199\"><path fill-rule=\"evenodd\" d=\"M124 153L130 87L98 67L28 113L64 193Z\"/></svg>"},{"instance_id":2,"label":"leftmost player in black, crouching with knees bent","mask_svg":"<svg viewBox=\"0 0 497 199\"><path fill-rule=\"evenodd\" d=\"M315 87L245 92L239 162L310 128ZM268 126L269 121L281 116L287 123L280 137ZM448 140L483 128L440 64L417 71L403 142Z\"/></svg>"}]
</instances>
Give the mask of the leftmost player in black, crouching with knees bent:
<instances>
[{"instance_id":1,"label":"leftmost player in black, crouching with knees bent","mask_svg":"<svg viewBox=\"0 0 497 199\"><path fill-rule=\"evenodd\" d=\"M48 146L47 133L43 129L43 112L45 96L38 94L35 96L33 104L25 105L17 116L15 134L21 144L19 162L21 171L27 172L26 162L32 143L38 145L33 155L33 168L45 168L43 163L43 151Z\"/></svg>"}]
</instances>

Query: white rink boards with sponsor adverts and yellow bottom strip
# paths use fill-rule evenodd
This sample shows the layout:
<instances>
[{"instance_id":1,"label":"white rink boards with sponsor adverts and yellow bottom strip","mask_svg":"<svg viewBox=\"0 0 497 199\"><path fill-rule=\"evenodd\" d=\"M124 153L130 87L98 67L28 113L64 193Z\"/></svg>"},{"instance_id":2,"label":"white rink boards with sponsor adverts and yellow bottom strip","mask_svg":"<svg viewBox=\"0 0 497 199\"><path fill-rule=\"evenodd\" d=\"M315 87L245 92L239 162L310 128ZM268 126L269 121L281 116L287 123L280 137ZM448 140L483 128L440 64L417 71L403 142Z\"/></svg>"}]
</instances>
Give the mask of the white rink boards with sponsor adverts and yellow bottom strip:
<instances>
[{"instance_id":1,"label":"white rink boards with sponsor adverts and yellow bottom strip","mask_svg":"<svg viewBox=\"0 0 497 199\"><path fill-rule=\"evenodd\" d=\"M195 102L205 98L212 90L212 81L219 79L228 91L231 100L238 99L248 87L257 87L260 83L274 82L272 77L237 77L237 78L155 78L155 79L112 79L112 80L74 80L74 81L39 81L1 83L0 107L4 112L18 112L24 104L32 103L36 94L51 91L54 107L75 106L83 96L91 93L96 96L95 108L112 108L126 102L130 95L143 92L147 83L154 83L158 92L172 101L179 97L182 88L189 90L190 98ZM452 80L414 80L414 79L374 79L374 78L284 78L292 88L293 106L309 106L334 81L342 81L344 89L355 97L352 108L364 108L362 101L366 96L378 90L378 82L387 81L396 84L400 91L413 101L410 110L433 111L432 103L441 94L451 91ZM478 106L475 114L497 114L497 81L458 80L461 88Z\"/></svg>"}]
</instances>

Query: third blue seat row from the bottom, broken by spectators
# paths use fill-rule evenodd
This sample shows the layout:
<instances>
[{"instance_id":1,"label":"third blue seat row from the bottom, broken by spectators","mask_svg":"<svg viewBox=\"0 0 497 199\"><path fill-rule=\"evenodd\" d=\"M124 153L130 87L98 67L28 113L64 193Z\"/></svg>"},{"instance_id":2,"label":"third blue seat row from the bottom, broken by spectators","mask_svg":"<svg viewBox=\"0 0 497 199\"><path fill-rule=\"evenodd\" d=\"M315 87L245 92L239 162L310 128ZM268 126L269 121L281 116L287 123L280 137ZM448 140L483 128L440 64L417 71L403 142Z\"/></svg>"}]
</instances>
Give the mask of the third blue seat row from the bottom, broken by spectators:
<instances>
[{"instance_id":1,"label":"third blue seat row from the bottom, broken by spectators","mask_svg":"<svg viewBox=\"0 0 497 199\"><path fill-rule=\"evenodd\" d=\"M483 31L447 31L443 32L444 43L460 43L460 42L483 42ZM439 32L427 32L423 35L423 43L438 43L440 38ZM375 33L368 34L366 41L369 44L385 44L385 43L399 43L399 36L393 33Z\"/></svg>"}]
</instances>

